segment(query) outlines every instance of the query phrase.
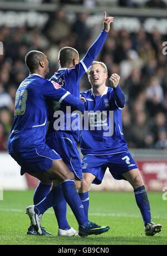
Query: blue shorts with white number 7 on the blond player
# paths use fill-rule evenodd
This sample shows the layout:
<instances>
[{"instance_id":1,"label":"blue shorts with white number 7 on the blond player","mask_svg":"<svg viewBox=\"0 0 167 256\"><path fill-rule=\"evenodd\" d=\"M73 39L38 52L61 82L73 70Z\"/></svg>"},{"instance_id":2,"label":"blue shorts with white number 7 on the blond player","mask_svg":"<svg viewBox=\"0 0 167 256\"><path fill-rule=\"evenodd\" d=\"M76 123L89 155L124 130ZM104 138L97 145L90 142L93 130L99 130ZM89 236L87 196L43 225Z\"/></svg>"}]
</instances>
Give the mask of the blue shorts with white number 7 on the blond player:
<instances>
[{"instance_id":1,"label":"blue shorts with white number 7 on the blond player","mask_svg":"<svg viewBox=\"0 0 167 256\"><path fill-rule=\"evenodd\" d=\"M82 173L92 173L96 177L92 183L100 184L106 168L115 179L125 179L122 174L136 169L137 164L129 152L110 155L85 155L82 160Z\"/></svg>"}]
</instances>

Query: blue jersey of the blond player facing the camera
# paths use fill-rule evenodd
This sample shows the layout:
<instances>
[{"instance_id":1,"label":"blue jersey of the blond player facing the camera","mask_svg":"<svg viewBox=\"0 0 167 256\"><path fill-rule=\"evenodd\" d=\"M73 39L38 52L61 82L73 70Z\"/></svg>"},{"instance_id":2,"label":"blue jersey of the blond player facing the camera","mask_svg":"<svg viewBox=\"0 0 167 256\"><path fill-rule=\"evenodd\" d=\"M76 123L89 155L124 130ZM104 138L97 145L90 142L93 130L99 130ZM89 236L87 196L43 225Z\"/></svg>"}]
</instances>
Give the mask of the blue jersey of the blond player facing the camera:
<instances>
[{"instance_id":1,"label":"blue jersey of the blond player facing the camera","mask_svg":"<svg viewBox=\"0 0 167 256\"><path fill-rule=\"evenodd\" d=\"M117 91L117 93L116 93ZM107 155L127 150L127 143L122 132L121 107L125 97L120 87L106 87L104 94L95 96L92 89L82 92L86 98L85 118L81 130L81 151L86 155Z\"/></svg>"}]
</instances>

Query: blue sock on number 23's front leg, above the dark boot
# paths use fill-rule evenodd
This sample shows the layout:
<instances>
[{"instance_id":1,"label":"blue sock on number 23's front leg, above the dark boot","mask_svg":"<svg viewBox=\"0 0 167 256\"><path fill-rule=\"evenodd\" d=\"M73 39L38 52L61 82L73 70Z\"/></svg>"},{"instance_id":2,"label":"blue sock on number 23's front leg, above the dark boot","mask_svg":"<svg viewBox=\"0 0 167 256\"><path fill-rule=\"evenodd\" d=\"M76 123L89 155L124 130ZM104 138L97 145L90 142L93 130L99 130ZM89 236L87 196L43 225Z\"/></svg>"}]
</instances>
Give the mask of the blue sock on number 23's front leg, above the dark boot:
<instances>
[{"instance_id":1,"label":"blue sock on number 23's front leg, above the dark boot","mask_svg":"<svg viewBox=\"0 0 167 256\"><path fill-rule=\"evenodd\" d=\"M71 207L77 222L81 226L86 226L89 221L85 215L84 206L82 205L80 196L77 193L75 181L73 179L66 179L61 183L63 195L66 202Z\"/></svg>"}]
</instances>

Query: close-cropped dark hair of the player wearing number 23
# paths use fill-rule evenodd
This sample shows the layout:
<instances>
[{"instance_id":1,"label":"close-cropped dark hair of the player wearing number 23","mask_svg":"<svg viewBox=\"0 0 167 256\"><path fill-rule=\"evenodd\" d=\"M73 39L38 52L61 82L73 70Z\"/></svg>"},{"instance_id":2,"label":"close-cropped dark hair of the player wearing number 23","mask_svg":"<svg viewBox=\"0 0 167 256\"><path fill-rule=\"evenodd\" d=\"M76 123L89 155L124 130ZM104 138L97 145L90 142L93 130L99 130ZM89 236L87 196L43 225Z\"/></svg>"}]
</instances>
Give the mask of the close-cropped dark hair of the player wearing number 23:
<instances>
[{"instance_id":1,"label":"close-cropped dark hair of the player wearing number 23","mask_svg":"<svg viewBox=\"0 0 167 256\"><path fill-rule=\"evenodd\" d=\"M39 65L40 61L43 59L43 53L41 51L29 51L25 57L25 63L30 72L35 71Z\"/></svg>"}]
</instances>

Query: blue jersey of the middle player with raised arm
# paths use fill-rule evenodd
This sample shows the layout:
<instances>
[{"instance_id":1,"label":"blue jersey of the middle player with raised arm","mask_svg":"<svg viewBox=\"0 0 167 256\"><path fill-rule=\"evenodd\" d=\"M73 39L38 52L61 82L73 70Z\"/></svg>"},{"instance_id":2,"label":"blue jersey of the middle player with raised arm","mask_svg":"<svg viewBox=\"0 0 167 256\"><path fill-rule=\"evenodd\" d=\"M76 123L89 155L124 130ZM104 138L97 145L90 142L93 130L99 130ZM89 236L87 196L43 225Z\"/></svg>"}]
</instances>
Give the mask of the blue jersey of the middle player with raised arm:
<instances>
[{"instance_id":1,"label":"blue jersey of the middle player with raised arm","mask_svg":"<svg viewBox=\"0 0 167 256\"><path fill-rule=\"evenodd\" d=\"M74 96L80 97L80 79L82 75L84 75L84 73L87 72L87 68L90 67L92 62L95 60L96 56L100 53L100 50L104 45L106 36L107 32L105 30L102 30L97 40L94 42L94 44L90 46L84 58L77 65L75 65L75 67L72 67L70 69L60 68L58 72L56 72L50 78L50 80L57 82ZM63 111L63 113L66 113L66 107L63 103L61 103L61 105L57 104L56 101L52 103L50 109L50 125L48 128L48 133L55 131L53 127L53 124L56 120L56 118L53 117L53 112L55 112L55 110L61 110ZM62 128L59 127L59 129L61 131L70 132L74 136L74 138L78 140L80 135L80 129L76 130L76 127L80 127L80 120L78 116L76 116L77 114L65 115L66 124ZM76 124L75 129L73 129L71 124Z\"/></svg>"}]
</instances>

